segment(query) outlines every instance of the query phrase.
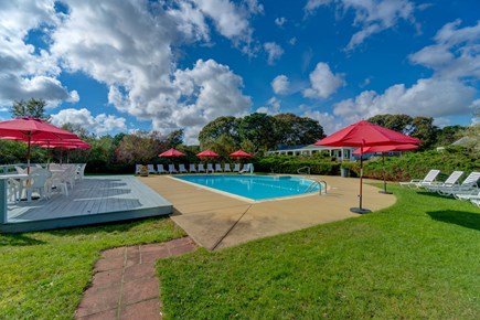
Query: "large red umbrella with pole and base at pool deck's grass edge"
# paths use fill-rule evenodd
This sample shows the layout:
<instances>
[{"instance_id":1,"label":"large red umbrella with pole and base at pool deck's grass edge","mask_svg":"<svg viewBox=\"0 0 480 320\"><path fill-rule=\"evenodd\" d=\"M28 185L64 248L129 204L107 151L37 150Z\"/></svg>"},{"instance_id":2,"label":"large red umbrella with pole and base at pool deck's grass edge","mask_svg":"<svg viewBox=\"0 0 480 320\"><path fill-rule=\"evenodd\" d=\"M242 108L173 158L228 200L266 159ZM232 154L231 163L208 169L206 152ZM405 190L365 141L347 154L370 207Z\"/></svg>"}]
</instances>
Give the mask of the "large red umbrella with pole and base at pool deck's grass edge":
<instances>
[{"instance_id":1,"label":"large red umbrella with pole and base at pool deck's grass edge","mask_svg":"<svg viewBox=\"0 0 480 320\"><path fill-rule=\"evenodd\" d=\"M364 147L408 143L422 143L422 141L405 136L401 132L362 120L328 136L327 138L316 142L314 146L360 147L360 152L363 154ZM360 157L360 207L350 209L350 211L356 213L370 212L370 210L362 207L362 179L363 159Z\"/></svg>"}]
</instances>

